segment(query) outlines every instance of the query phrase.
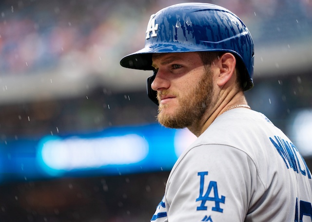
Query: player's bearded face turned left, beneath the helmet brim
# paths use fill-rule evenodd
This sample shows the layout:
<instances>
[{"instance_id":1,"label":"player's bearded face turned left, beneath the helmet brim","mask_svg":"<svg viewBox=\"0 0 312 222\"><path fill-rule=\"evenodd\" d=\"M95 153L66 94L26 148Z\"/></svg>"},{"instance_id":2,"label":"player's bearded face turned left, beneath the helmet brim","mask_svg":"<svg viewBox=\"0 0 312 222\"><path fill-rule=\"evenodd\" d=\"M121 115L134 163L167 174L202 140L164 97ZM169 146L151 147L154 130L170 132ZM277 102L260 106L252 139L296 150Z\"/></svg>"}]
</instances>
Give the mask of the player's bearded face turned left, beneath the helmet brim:
<instances>
[{"instance_id":1,"label":"player's bearded face turned left, beneath the helmet brim","mask_svg":"<svg viewBox=\"0 0 312 222\"><path fill-rule=\"evenodd\" d=\"M169 128L185 128L198 122L213 95L212 72L199 55L190 53L153 56L156 78L152 89L159 102L157 120Z\"/></svg>"}]
</instances>

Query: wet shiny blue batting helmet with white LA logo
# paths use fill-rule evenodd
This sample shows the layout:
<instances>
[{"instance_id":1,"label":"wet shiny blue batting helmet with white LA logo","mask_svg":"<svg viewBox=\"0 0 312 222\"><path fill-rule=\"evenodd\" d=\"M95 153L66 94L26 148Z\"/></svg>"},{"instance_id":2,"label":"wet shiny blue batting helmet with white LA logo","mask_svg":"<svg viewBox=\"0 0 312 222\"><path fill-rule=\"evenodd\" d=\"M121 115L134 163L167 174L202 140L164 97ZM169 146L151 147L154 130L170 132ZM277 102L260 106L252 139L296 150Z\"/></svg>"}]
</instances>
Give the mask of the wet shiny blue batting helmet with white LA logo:
<instances>
[{"instance_id":1,"label":"wet shiny blue batting helmet with white LA logo","mask_svg":"<svg viewBox=\"0 0 312 222\"><path fill-rule=\"evenodd\" d=\"M243 90L254 86L254 42L246 25L226 8L209 3L181 3L153 14L145 34L145 47L125 56L126 68L154 70L153 53L221 51L233 53L242 63ZM148 79L149 98L158 103Z\"/></svg>"}]
</instances>

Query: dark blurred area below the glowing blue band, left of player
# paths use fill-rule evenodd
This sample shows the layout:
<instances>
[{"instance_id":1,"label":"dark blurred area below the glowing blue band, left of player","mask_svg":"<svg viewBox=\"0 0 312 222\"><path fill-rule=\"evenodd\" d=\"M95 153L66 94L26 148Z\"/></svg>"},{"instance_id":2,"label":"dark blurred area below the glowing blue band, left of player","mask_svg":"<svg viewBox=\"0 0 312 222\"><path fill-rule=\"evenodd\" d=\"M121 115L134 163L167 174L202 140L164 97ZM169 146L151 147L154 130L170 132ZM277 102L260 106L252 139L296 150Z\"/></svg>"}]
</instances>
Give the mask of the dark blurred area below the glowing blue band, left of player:
<instances>
[{"instance_id":1,"label":"dark blurred area below the glowing blue band, left of player","mask_svg":"<svg viewBox=\"0 0 312 222\"><path fill-rule=\"evenodd\" d=\"M147 222L169 172L4 184L1 222Z\"/></svg>"}]
</instances>

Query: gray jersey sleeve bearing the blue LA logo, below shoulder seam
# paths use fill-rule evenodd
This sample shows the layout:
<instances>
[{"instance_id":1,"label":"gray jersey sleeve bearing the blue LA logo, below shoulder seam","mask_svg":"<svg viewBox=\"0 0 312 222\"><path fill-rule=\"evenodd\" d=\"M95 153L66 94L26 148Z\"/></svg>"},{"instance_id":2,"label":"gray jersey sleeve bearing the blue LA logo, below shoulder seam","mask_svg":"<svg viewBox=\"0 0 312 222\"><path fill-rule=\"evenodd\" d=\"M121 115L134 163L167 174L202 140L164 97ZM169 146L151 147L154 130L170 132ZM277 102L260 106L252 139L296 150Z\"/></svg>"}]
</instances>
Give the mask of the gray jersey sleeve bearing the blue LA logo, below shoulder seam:
<instances>
[{"instance_id":1,"label":"gray jersey sleeve bearing the blue LA logo, below shoulder seam","mask_svg":"<svg viewBox=\"0 0 312 222\"><path fill-rule=\"evenodd\" d=\"M243 222L264 192L254 161L226 145L199 145L174 167L164 200L170 222Z\"/></svg>"}]
</instances>

